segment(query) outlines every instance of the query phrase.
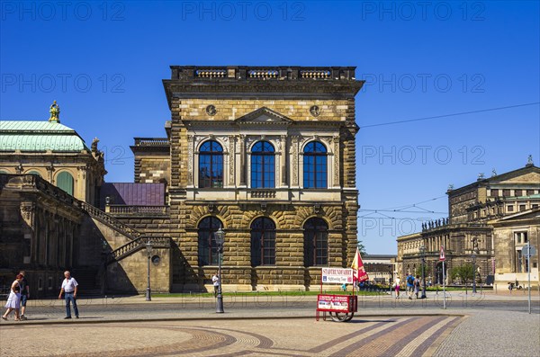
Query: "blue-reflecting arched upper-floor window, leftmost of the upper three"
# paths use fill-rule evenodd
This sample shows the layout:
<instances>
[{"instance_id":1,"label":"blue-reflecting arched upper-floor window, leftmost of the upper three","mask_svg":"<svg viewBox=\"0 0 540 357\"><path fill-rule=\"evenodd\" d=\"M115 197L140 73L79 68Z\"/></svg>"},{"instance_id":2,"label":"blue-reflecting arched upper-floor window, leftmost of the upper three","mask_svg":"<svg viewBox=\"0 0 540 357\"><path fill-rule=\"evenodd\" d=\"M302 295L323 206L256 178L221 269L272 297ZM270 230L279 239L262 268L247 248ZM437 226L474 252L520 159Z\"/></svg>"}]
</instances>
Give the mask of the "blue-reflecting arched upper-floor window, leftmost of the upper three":
<instances>
[{"instance_id":1,"label":"blue-reflecting arched upper-floor window, leftmost of the upper three","mask_svg":"<svg viewBox=\"0 0 540 357\"><path fill-rule=\"evenodd\" d=\"M223 147L209 140L199 150L199 187L223 187Z\"/></svg>"}]
</instances>

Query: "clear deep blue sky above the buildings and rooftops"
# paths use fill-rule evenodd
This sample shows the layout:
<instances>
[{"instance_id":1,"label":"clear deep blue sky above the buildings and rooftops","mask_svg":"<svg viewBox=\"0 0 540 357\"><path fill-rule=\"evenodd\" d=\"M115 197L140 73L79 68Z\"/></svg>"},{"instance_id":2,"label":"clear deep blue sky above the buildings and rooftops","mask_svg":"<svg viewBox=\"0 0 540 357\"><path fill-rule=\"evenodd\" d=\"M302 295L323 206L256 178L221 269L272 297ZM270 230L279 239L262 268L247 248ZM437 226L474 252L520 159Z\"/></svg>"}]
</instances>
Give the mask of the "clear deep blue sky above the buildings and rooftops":
<instances>
[{"instance_id":1,"label":"clear deep blue sky above the buildings and rooftops","mask_svg":"<svg viewBox=\"0 0 540 357\"><path fill-rule=\"evenodd\" d=\"M540 163L536 1L0 4L0 119L47 120L56 99L64 124L100 138L108 182L133 180L133 137L165 136L170 65L356 66L371 254L446 217L449 183ZM400 120L416 121L377 125Z\"/></svg>"}]
</instances>

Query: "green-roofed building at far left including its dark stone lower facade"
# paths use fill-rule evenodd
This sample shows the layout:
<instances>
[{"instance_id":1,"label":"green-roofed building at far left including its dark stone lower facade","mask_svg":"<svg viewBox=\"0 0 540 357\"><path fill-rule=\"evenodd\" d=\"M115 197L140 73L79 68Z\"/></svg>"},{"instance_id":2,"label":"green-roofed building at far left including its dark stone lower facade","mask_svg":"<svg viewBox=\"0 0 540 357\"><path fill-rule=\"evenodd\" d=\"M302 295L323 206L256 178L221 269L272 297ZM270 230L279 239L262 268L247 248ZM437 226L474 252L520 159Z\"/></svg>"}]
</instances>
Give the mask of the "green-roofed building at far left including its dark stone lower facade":
<instances>
[{"instance_id":1,"label":"green-roofed building at far left including its dark stone lower facade","mask_svg":"<svg viewBox=\"0 0 540 357\"><path fill-rule=\"evenodd\" d=\"M91 264L78 202L95 201L106 173L97 142L60 124L56 102L49 112L0 121L0 286L24 269L35 297L58 293L64 269Z\"/></svg>"}]
</instances>

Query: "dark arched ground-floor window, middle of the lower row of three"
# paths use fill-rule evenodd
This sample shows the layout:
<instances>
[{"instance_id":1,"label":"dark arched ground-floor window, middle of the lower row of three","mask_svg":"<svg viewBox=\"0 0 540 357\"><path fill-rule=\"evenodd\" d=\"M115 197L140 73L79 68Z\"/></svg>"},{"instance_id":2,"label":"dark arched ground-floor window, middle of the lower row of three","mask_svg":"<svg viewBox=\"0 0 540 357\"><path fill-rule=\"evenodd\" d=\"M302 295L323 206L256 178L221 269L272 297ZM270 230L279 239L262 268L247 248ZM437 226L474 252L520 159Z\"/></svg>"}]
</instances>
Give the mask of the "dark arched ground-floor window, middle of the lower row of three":
<instances>
[{"instance_id":1,"label":"dark arched ground-floor window, middle of the lower row of three","mask_svg":"<svg viewBox=\"0 0 540 357\"><path fill-rule=\"evenodd\" d=\"M261 217L251 224L251 266L275 265L275 223Z\"/></svg>"}]
</instances>

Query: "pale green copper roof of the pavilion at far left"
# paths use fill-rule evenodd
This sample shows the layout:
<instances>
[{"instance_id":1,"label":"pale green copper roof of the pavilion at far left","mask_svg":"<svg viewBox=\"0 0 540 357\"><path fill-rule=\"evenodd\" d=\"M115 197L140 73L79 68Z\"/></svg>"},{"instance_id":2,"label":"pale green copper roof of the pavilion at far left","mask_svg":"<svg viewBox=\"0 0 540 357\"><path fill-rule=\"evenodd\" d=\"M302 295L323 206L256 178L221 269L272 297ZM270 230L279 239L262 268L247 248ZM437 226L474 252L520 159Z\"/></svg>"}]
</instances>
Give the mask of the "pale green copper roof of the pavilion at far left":
<instances>
[{"instance_id":1,"label":"pale green copper roof of the pavilion at far left","mask_svg":"<svg viewBox=\"0 0 540 357\"><path fill-rule=\"evenodd\" d=\"M88 150L74 129L55 121L0 121L0 151ZM89 151L89 150L88 150Z\"/></svg>"}]
</instances>

